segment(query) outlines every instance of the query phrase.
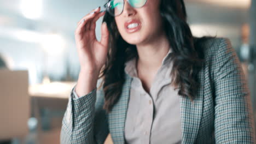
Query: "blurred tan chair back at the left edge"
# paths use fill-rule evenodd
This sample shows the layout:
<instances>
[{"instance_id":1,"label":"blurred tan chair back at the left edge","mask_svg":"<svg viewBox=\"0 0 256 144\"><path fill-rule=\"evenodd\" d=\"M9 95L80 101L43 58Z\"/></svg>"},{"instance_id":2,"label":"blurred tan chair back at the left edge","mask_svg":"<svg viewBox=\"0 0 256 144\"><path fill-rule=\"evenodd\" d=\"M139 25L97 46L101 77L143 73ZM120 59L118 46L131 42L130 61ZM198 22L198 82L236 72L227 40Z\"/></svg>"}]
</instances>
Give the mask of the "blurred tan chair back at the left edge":
<instances>
[{"instance_id":1,"label":"blurred tan chair back at the left edge","mask_svg":"<svg viewBox=\"0 0 256 144\"><path fill-rule=\"evenodd\" d=\"M0 143L28 134L28 71L0 69Z\"/></svg>"}]
</instances>

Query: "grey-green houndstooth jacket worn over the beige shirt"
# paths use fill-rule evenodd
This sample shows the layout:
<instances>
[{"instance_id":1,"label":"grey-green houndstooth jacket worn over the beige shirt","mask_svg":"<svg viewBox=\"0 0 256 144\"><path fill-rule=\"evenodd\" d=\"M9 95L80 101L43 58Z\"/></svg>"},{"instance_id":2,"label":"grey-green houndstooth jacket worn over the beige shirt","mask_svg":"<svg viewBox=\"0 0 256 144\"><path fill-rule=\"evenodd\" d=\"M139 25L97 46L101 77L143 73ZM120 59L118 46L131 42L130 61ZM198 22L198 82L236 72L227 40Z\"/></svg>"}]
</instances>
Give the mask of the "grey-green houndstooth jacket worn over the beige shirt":
<instances>
[{"instance_id":1,"label":"grey-green houndstooth jacket worn over the beige shirt","mask_svg":"<svg viewBox=\"0 0 256 144\"><path fill-rule=\"evenodd\" d=\"M236 52L224 38L208 40L204 47L206 61L199 73L194 103L180 97L182 143L254 143L250 93ZM125 75L121 97L110 113L102 109L102 89L95 88L79 99L73 99L71 92L62 121L61 143L103 143L109 133L114 143L125 143L132 79Z\"/></svg>"}]
</instances>

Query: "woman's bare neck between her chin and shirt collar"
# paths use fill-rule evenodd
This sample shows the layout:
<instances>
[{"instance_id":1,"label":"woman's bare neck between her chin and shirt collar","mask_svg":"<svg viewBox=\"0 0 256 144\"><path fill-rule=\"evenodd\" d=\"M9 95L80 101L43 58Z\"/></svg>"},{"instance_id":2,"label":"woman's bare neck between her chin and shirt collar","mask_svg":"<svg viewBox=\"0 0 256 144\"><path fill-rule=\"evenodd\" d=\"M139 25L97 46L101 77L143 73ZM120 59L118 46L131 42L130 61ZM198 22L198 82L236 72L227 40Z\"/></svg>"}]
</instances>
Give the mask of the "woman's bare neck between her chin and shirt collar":
<instances>
[{"instance_id":1,"label":"woman's bare neck between her chin and shirt collar","mask_svg":"<svg viewBox=\"0 0 256 144\"><path fill-rule=\"evenodd\" d=\"M147 44L136 45L138 51L137 67L139 69L154 71L162 65L162 60L167 55L170 44L166 35L155 38Z\"/></svg>"}]
</instances>

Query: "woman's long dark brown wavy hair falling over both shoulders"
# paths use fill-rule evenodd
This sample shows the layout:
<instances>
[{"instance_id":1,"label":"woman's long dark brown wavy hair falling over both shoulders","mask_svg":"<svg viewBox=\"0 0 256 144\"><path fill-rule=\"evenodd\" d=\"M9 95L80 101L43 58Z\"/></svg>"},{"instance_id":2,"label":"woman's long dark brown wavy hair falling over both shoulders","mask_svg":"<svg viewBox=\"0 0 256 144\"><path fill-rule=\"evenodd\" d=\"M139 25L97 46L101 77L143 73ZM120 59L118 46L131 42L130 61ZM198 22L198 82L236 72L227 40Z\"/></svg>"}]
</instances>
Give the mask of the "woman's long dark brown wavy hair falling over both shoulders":
<instances>
[{"instance_id":1,"label":"woman's long dark brown wavy hair falling over both shoulders","mask_svg":"<svg viewBox=\"0 0 256 144\"><path fill-rule=\"evenodd\" d=\"M208 37L193 37L187 23L183 0L161 0L159 10L172 49L172 86L179 89L179 95L189 97L193 101L199 87L197 75L204 60L201 44ZM99 79L103 78L101 83L105 99L103 109L110 112L122 92L125 62L138 58L138 53L136 45L128 44L121 37L113 16L106 13L103 22L107 23L110 32L109 51Z\"/></svg>"}]
</instances>

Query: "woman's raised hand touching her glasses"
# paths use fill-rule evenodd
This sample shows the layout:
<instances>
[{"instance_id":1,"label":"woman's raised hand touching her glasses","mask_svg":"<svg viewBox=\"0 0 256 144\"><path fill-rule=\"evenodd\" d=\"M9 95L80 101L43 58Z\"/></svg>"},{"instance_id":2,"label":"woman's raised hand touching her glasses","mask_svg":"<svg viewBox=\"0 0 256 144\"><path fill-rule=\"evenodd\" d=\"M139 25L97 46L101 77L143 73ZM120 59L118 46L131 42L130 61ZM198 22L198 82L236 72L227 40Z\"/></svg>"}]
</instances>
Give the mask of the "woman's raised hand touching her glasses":
<instances>
[{"instance_id":1,"label":"woman's raised hand touching her glasses","mask_svg":"<svg viewBox=\"0 0 256 144\"><path fill-rule=\"evenodd\" d=\"M101 41L96 39L96 21L106 13L100 13L100 7L91 11L78 22L75 30L75 43L77 45L80 71L99 74L107 59L108 29L104 22L101 26Z\"/></svg>"}]
</instances>

